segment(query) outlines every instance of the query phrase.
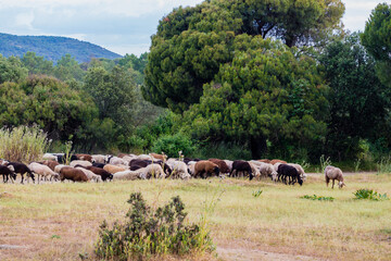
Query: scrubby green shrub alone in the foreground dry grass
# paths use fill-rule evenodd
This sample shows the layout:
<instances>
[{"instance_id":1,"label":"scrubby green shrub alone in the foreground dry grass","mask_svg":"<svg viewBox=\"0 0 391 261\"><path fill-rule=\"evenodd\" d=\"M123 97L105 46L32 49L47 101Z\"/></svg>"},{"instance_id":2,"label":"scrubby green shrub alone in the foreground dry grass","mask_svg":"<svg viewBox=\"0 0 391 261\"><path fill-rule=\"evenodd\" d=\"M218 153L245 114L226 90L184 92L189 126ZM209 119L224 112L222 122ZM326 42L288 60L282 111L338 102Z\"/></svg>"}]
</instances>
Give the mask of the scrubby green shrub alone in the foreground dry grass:
<instances>
[{"instance_id":1,"label":"scrubby green shrub alone in the foreground dry grass","mask_svg":"<svg viewBox=\"0 0 391 261\"><path fill-rule=\"evenodd\" d=\"M153 210L140 192L131 194L124 224L116 221L99 228L96 254L103 259L141 260L151 254L185 254L192 250L211 251L213 243L203 225L185 224L187 215L180 198Z\"/></svg>"}]
</instances>

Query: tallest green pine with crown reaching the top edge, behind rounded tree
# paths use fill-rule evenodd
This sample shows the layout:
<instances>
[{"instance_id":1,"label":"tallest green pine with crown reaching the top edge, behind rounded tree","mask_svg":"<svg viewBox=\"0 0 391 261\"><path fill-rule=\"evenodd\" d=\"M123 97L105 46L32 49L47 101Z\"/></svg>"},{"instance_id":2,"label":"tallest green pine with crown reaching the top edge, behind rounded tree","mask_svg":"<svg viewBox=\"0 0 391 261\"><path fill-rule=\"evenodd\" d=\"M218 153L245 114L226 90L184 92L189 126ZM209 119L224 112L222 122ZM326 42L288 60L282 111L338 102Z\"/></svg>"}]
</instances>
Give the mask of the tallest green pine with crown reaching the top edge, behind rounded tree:
<instances>
[{"instance_id":1,"label":"tallest green pine with crown reaching the top edge, behind rounded tree","mask_svg":"<svg viewBox=\"0 0 391 261\"><path fill-rule=\"evenodd\" d=\"M314 44L339 26L343 11L340 0L211 0L175 9L152 36L143 96L182 112L232 61L236 37L277 38L289 47Z\"/></svg>"}]
</instances>

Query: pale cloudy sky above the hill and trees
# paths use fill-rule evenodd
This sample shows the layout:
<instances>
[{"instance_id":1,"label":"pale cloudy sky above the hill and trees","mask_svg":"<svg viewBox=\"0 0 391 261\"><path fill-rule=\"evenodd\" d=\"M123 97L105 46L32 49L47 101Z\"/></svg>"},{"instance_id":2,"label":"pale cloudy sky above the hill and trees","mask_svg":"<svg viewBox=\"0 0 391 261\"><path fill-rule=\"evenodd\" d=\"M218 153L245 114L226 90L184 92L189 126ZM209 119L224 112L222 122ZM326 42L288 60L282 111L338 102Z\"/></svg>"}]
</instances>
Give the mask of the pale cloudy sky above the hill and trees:
<instances>
[{"instance_id":1,"label":"pale cloudy sky above the hill and trees","mask_svg":"<svg viewBox=\"0 0 391 261\"><path fill-rule=\"evenodd\" d=\"M119 54L149 50L159 20L179 5L202 0L0 0L0 33L66 36ZM343 0L343 23L364 30L370 11L391 0Z\"/></svg>"}]
</instances>

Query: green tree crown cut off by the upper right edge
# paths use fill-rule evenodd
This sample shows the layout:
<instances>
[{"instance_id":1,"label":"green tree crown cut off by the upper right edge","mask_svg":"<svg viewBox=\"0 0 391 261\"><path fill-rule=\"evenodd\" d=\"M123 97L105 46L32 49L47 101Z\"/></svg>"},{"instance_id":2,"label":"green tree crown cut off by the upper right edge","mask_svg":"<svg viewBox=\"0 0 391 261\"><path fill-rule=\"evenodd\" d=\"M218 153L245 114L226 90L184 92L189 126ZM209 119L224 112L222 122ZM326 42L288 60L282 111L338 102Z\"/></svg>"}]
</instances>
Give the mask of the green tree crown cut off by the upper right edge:
<instances>
[{"instance_id":1,"label":"green tree crown cut off by the upper right edge","mask_svg":"<svg viewBox=\"0 0 391 261\"><path fill-rule=\"evenodd\" d=\"M380 80L391 87L391 5L380 3L365 24L362 41L377 61Z\"/></svg>"}]
</instances>

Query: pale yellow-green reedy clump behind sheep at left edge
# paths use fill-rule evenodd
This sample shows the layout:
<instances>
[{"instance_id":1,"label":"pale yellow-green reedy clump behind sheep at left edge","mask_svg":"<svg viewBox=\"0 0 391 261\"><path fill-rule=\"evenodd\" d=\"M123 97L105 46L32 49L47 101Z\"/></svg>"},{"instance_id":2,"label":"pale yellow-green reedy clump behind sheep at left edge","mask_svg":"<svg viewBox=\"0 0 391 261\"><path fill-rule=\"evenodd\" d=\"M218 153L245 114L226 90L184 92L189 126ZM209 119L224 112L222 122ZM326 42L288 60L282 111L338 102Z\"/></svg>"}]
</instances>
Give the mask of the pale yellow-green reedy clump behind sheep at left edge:
<instances>
[{"instance_id":1,"label":"pale yellow-green reedy clump behind sheep at left edge","mask_svg":"<svg viewBox=\"0 0 391 261\"><path fill-rule=\"evenodd\" d=\"M37 126L0 129L0 158L9 161L31 162L42 159L50 141Z\"/></svg>"}]
</instances>

